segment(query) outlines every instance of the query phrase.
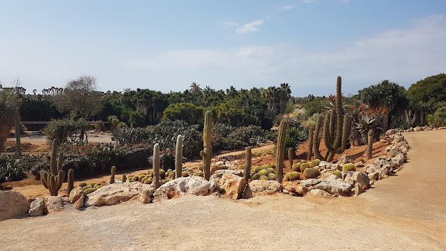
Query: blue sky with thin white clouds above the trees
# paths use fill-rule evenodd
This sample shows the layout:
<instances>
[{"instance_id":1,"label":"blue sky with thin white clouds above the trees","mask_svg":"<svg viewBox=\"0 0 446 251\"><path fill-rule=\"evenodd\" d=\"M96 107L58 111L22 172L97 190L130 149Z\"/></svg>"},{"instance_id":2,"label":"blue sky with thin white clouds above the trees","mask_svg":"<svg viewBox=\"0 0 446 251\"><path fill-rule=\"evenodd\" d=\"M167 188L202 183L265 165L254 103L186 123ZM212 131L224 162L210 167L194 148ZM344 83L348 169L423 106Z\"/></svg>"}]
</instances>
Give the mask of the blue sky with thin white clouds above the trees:
<instances>
[{"instance_id":1,"label":"blue sky with thin white clouds above the trees","mask_svg":"<svg viewBox=\"0 0 446 251\"><path fill-rule=\"evenodd\" d=\"M100 91L289 83L344 94L446 72L444 0L0 0L0 81L27 93L92 75Z\"/></svg>"}]
</instances>

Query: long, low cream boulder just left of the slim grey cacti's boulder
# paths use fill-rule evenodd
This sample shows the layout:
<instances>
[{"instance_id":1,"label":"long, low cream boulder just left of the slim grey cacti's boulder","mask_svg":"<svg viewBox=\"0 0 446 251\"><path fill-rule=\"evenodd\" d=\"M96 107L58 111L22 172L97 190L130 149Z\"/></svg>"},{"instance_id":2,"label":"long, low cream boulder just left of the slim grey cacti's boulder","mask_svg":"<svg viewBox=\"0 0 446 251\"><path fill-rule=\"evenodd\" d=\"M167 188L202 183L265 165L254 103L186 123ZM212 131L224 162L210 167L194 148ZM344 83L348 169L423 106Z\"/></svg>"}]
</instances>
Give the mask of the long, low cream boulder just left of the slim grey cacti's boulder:
<instances>
[{"instance_id":1,"label":"long, low cream boulder just left of the slim grey cacti's boulder","mask_svg":"<svg viewBox=\"0 0 446 251\"><path fill-rule=\"evenodd\" d=\"M138 182L122 184L113 183L110 185L105 185L95 192L91 192L89 195L86 195L84 206L108 206L118 204L121 201L128 201L133 197L151 197L152 195L153 185L146 185Z\"/></svg>"}]
</instances>

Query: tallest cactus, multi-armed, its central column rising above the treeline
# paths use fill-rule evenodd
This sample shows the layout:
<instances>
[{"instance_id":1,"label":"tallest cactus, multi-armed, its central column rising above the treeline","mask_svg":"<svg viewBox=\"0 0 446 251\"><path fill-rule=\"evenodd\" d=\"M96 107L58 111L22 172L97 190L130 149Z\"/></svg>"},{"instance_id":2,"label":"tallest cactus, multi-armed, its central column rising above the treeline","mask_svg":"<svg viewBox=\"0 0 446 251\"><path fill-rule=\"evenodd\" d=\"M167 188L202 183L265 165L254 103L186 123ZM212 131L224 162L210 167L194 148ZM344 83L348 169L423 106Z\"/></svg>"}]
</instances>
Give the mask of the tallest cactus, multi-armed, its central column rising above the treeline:
<instances>
[{"instance_id":1,"label":"tallest cactus, multi-armed, its central column rising above the treeline","mask_svg":"<svg viewBox=\"0 0 446 251\"><path fill-rule=\"evenodd\" d=\"M319 122L318 118L318 122ZM343 122L344 121L344 122ZM337 89L334 108L325 115L323 123L323 139L328 152L325 158L321 160L332 161L335 153L343 153L346 150L348 137L351 134L352 119L350 114L344 114L342 109L342 93L341 93L341 77L337 77ZM316 127L320 123L316 123ZM318 131L318 128L316 128ZM314 137L316 139L316 136ZM318 145L318 143L317 143ZM318 152L316 156L316 151ZM316 158L322 157L319 149L316 149L316 141L314 148L314 155Z\"/></svg>"}]
</instances>

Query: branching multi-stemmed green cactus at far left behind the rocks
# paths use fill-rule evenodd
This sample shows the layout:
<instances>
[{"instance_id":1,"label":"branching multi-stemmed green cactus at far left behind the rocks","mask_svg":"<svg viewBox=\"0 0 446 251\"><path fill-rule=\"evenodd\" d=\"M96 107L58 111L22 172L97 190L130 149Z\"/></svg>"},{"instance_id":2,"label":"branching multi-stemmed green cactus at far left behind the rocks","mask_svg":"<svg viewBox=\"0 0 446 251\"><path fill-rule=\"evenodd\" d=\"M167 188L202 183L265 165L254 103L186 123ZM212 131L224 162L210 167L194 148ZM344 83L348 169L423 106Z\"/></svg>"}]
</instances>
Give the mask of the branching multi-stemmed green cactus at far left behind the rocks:
<instances>
[{"instance_id":1,"label":"branching multi-stemmed green cactus at far left behind the rocks","mask_svg":"<svg viewBox=\"0 0 446 251\"><path fill-rule=\"evenodd\" d=\"M49 190L51 196L57 196L57 192L62 187L63 180L65 179L65 172L62 170L63 153L58 155L57 139L53 140L51 147L51 159L49 161L50 173L42 171L40 174L40 182L43 186Z\"/></svg>"}]
</instances>

